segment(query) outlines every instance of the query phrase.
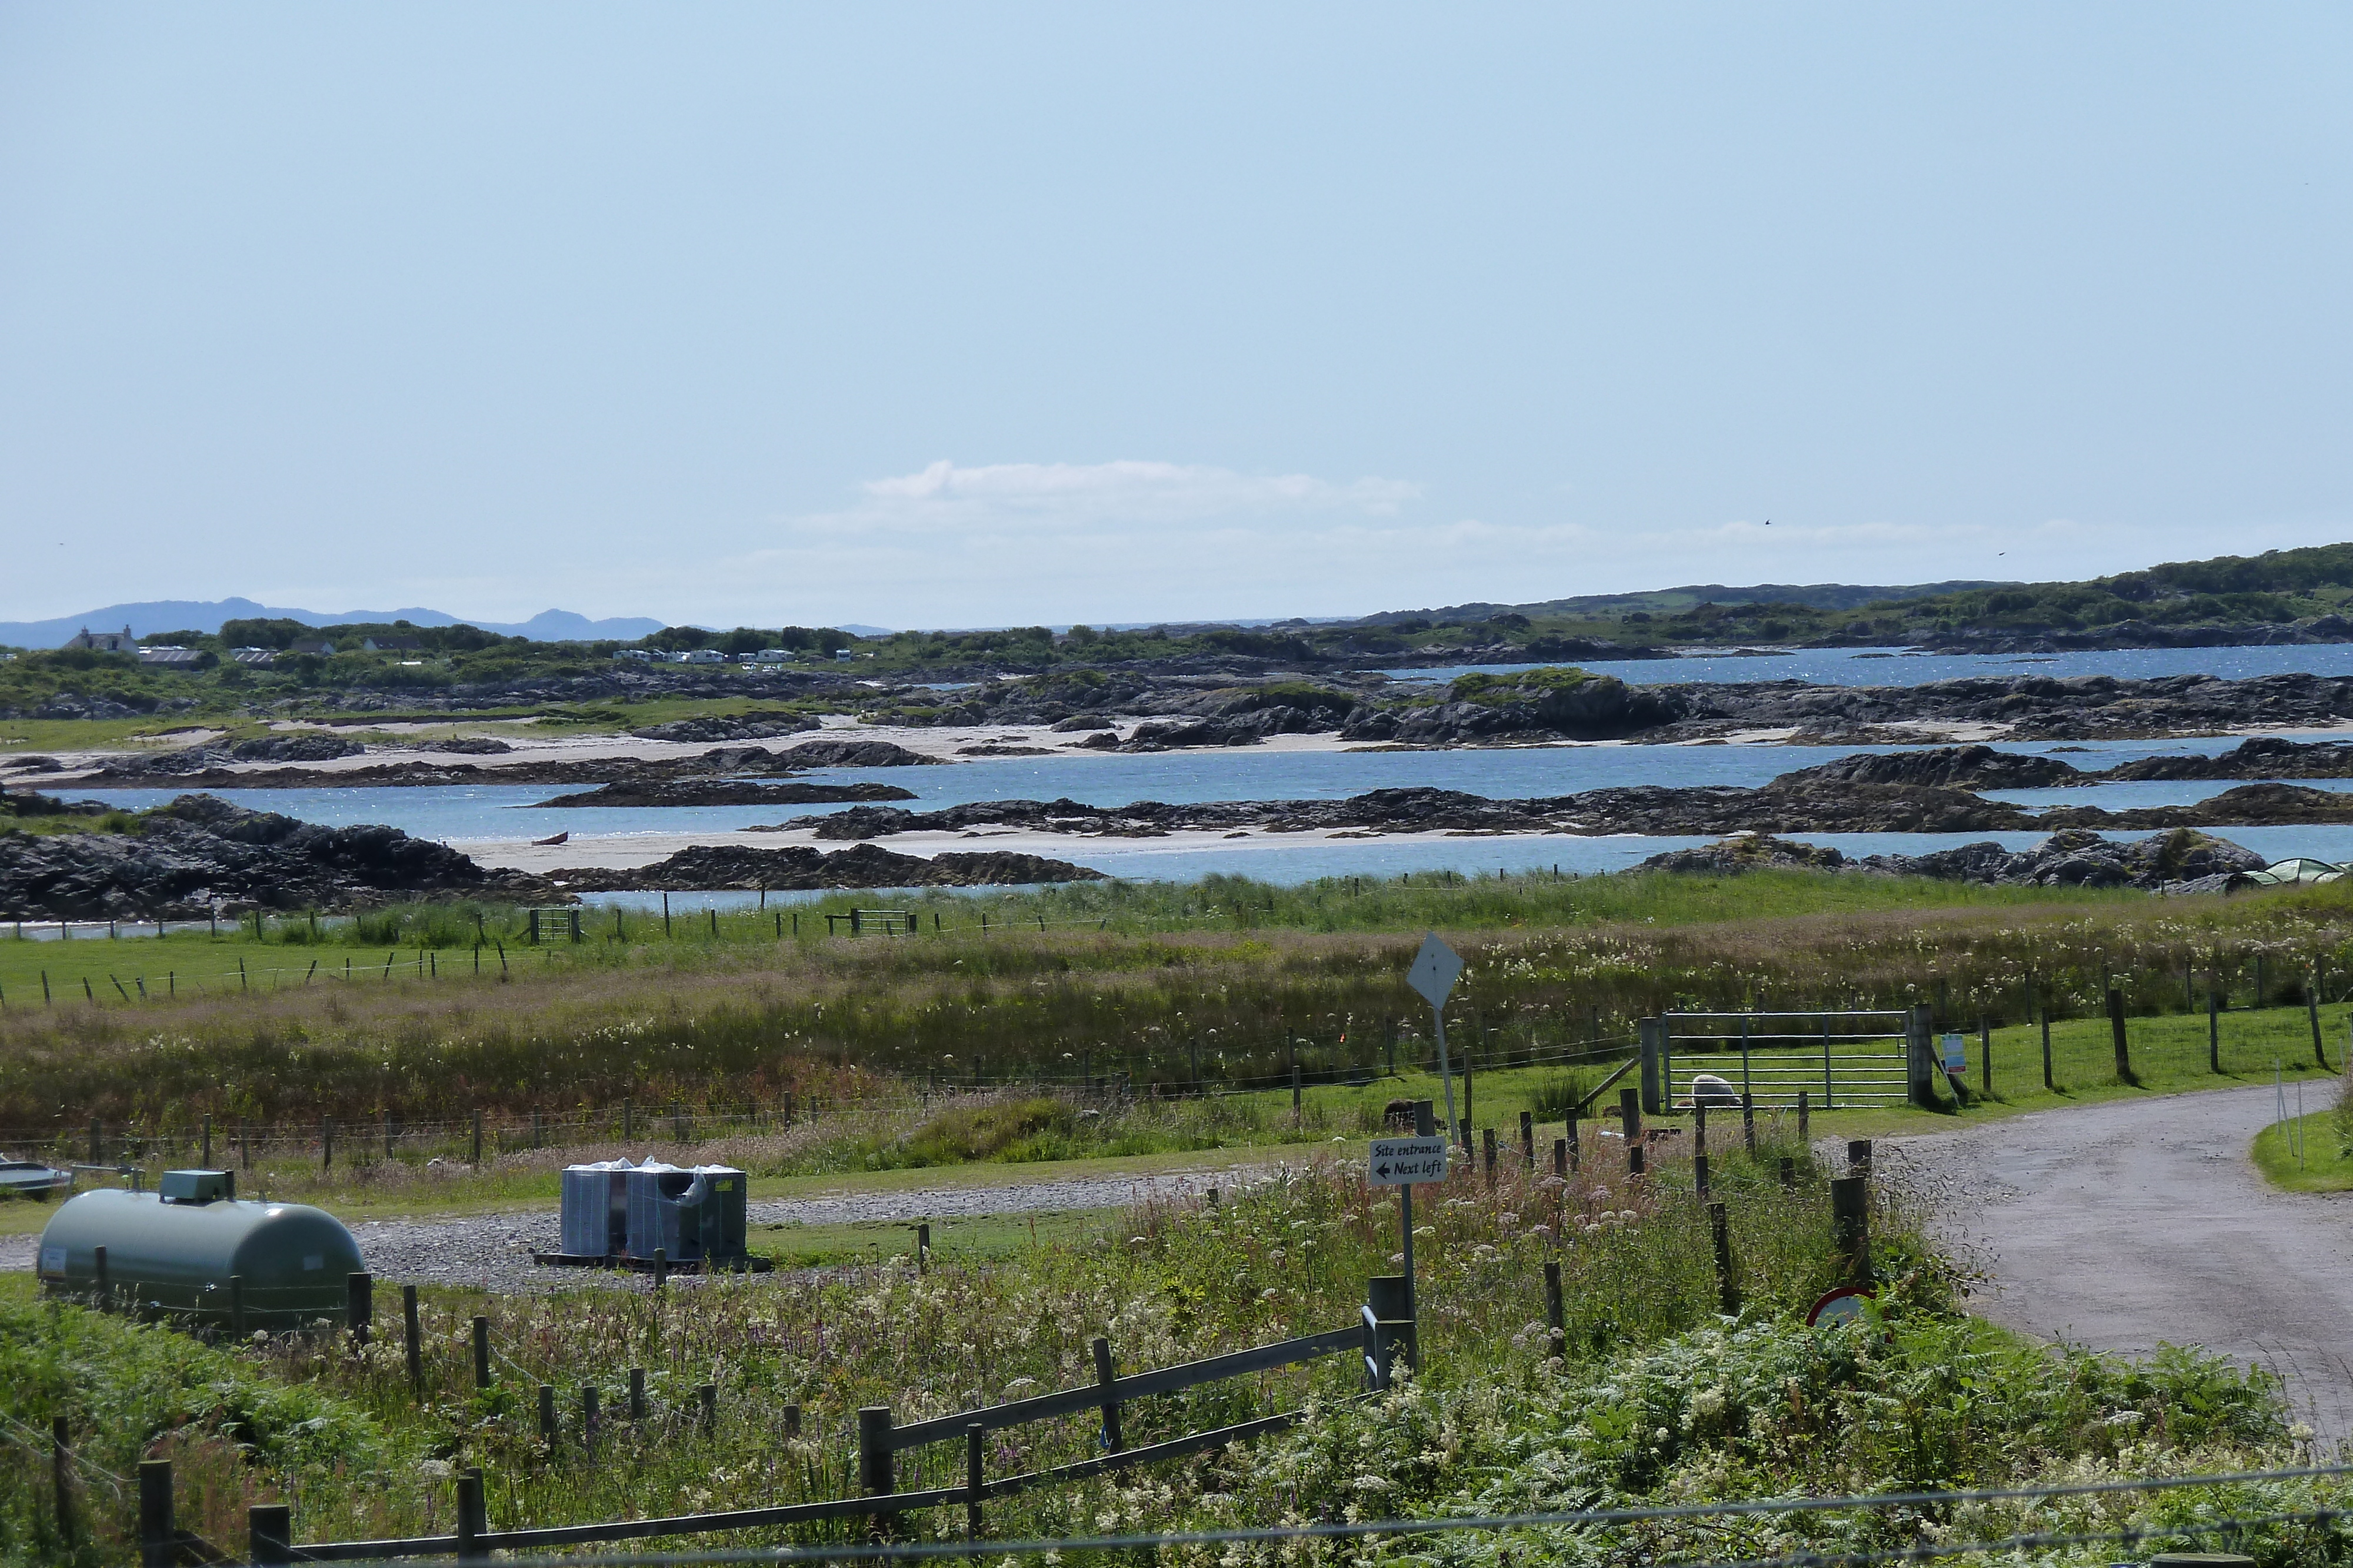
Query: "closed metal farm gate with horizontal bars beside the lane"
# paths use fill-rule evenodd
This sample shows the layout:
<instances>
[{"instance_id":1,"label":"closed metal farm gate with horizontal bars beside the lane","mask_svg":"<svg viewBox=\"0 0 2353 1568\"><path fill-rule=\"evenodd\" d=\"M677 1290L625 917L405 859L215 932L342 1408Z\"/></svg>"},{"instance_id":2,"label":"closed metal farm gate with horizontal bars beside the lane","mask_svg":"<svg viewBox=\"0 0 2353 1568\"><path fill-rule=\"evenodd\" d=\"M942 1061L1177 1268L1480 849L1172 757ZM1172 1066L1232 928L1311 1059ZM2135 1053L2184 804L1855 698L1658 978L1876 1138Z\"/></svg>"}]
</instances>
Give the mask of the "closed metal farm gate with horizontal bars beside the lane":
<instances>
[{"instance_id":1,"label":"closed metal farm gate with horizontal bars beside the lane","mask_svg":"<svg viewBox=\"0 0 2353 1568\"><path fill-rule=\"evenodd\" d=\"M1908 1013L1661 1013L1647 1020L1642 1088L1654 1114L1687 1112L1692 1081L1722 1079L1758 1107L1904 1105L1915 1030Z\"/></svg>"}]
</instances>

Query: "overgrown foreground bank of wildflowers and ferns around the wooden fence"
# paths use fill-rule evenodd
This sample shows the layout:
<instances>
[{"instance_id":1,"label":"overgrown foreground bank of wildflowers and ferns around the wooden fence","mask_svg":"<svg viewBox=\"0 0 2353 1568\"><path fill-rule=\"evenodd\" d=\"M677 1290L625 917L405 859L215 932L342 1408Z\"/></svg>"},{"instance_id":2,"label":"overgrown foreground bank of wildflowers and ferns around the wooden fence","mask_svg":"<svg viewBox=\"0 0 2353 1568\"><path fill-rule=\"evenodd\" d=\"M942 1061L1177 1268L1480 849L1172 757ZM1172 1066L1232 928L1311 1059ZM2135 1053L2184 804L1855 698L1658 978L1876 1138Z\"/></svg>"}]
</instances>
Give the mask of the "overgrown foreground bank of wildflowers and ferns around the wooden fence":
<instances>
[{"instance_id":1,"label":"overgrown foreground bank of wildflowers and ferns around the wooden fence","mask_svg":"<svg viewBox=\"0 0 2353 1568\"><path fill-rule=\"evenodd\" d=\"M993 1502L1000 1537L1125 1528L1224 1528L1280 1519L1612 1507L1687 1497L1838 1495L2000 1486L2082 1474L2242 1469L2299 1458L2275 1389L2191 1352L2146 1363L2049 1356L1955 1314L1958 1279L1920 1218L1889 1194L1873 1213L1885 1321L1809 1333L1805 1302L1838 1279L1828 1201L1807 1166L1784 1192L1727 1157L1739 1319L1720 1316L1708 1222L1673 1173L1574 1187L1504 1173L1457 1180L1417 1206L1426 1378L1355 1396L1348 1356L1139 1401L1129 1443L1306 1406L1287 1434L1118 1479ZM586 1288L553 1298L428 1291L424 1389L398 1342L367 1354L301 1340L202 1347L78 1307L26 1302L0 1281L0 1415L45 1432L66 1415L94 1467L129 1474L174 1458L181 1523L233 1544L254 1500L294 1505L296 1537L449 1528L452 1476L480 1465L494 1526L748 1507L854 1488L854 1413L889 1403L915 1420L1094 1378L1089 1340L1122 1368L1311 1333L1353 1319L1367 1274L1388 1272L1395 1199L1334 1168L1297 1168L1221 1206L1155 1206L1115 1225L991 1237L831 1276L694 1281L666 1298ZM1551 1359L1544 1262L1565 1288L1565 1359ZM386 1281L388 1291L391 1281ZM494 1387L473 1389L468 1319L489 1316ZM398 1321L379 1300L379 1321ZM645 1368L649 1410L626 1415ZM560 1436L536 1427L536 1387L560 1389ZM715 1385L718 1427L696 1422ZM607 1436L581 1453L579 1389L602 1394ZM798 1415L798 1429L791 1422ZM998 1434L991 1474L1099 1453L1094 1418ZM901 1486L955 1483L955 1446L906 1455ZM2165 1523L2195 1509L2259 1514L2278 1488L2115 1497L2035 1516L2045 1526ZM2297 1493L2292 1500L2304 1500ZM127 1500L85 1472L85 1542L47 1523L40 1465L0 1467L0 1549L14 1561L129 1561ZM2341 1507L2341 1502L2337 1505ZM2071 1512L2075 1509L2075 1512ZM1882 1549L1937 1530L2033 1516L1922 1521L1814 1516L1678 1521L1621 1533L1466 1535L1445 1561L1734 1559L1791 1549ZM918 1537L962 1528L960 1509L908 1519ZM1993 1530L2000 1533L2000 1530ZM840 1540L802 1526L713 1547ZM699 1542L682 1540L680 1549ZM2341 1549L2329 1530L2249 1533L2266 1563ZM1341 1563L1344 1544L1172 1552L1224 1563ZM2075 1559L2066 1559L2075 1561ZM2082 1559L2082 1561L2108 1561Z\"/></svg>"}]
</instances>

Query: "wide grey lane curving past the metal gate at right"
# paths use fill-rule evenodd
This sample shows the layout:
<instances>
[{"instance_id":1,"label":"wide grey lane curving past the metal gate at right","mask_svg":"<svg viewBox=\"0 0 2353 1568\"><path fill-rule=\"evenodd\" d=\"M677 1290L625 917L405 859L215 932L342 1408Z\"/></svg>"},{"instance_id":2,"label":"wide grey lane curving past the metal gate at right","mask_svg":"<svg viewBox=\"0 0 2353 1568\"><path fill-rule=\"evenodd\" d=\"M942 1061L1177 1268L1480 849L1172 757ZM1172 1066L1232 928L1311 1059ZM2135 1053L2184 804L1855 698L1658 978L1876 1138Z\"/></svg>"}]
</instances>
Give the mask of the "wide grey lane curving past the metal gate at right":
<instances>
[{"instance_id":1,"label":"wide grey lane curving past the metal gate at right","mask_svg":"<svg viewBox=\"0 0 2353 1568\"><path fill-rule=\"evenodd\" d=\"M2306 1091L2306 1110L2322 1107ZM2247 1159L2273 1091L2038 1112L1889 1145L1984 1253L1998 1324L2092 1349L2198 1345L2268 1366L2353 1436L2353 1194L2292 1194Z\"/></svg>"}]
</instances>

